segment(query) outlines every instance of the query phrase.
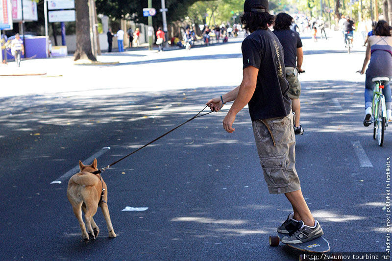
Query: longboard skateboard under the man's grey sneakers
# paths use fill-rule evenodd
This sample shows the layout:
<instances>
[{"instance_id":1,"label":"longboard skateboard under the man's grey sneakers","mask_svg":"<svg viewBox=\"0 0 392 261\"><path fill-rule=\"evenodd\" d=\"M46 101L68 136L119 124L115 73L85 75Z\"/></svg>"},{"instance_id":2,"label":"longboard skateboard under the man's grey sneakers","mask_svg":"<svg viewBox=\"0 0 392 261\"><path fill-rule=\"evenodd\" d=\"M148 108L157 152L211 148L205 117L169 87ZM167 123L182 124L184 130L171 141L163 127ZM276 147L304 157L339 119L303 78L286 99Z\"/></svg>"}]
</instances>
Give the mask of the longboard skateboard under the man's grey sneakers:
<instances>
[{"instance_id":1,"label":"longboard skateboard under the man's grey sneakers","mask_svg":"<svg viewBox=\"0 0 392 261\"><path fill-rule=\"evenodd\" d=\"M277 236L270 236L270 246L278 246L279 243L282 241L282 237L284 236L286 235L282 233L277 233ZM311 241L300 243L300 244L287 244L287 243L282 243L282 244L309 253L322 254L330 251L329 243L324 237L318 237ZM304 255L300 255L299 260L300 261L305 260Z\"/></svg>"}]
</instances>

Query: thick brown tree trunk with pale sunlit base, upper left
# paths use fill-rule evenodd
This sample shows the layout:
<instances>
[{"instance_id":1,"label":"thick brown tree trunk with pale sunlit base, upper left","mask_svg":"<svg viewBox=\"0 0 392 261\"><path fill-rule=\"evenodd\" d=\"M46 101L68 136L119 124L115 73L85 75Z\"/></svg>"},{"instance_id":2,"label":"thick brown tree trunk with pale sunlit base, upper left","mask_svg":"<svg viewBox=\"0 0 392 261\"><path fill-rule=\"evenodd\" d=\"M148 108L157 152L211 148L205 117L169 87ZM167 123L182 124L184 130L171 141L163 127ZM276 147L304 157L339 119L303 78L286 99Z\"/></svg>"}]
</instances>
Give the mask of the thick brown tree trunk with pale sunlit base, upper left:
<instances>
[{"instance_id":1,"label":"thick brown tree trunk with pale sunlit base, upper left","mask_svg":"<svg viewBox=\"0 0 392 261\"><path fill-rule=\"evenodd\" d=\"M97 61L91 50L88 0L75 0L76 9L76 51L73 60Z\"/></svg>"}]
</instances>

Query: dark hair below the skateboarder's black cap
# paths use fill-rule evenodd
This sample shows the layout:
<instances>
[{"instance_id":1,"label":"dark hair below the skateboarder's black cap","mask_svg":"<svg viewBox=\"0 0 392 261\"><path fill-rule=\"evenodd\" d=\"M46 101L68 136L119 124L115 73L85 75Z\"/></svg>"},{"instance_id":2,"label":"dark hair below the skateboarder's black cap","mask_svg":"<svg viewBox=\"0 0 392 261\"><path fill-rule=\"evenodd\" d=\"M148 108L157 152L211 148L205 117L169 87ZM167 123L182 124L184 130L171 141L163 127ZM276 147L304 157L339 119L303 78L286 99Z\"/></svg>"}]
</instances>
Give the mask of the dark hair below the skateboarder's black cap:
<instances>
[{"instance_id":1,"label":"dark hair below the skateboarder's black cap","mask_svg":"<svg viewBox=\"0 0 392 261\"><path fill-rule=\"evenodd\" d=\"M267 30L270 24L273 24L275 16L268 12L244 12L241 16L241 23L246 30L254 32L257 29Z\"/></svg>"}]
</instances>

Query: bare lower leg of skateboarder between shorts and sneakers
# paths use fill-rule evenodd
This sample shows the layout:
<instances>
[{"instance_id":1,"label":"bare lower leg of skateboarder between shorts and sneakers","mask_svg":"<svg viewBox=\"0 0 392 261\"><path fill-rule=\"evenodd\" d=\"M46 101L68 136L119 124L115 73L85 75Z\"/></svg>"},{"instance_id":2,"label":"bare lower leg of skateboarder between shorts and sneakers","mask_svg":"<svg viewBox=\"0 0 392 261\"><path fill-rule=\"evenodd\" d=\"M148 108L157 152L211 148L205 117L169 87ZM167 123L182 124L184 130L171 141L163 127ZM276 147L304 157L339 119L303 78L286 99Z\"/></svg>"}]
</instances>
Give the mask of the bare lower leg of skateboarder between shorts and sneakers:
<instances>
[{"instance_id":1,"label":"bare lower leg of skateboarder between shorts and sneakers","mask_svg":"<svg viewBox=\"0 0 392 261\"><path fill-rule=\"evenodd\" d=\"M302 220L302 222L310 227L315 225L315 219L309 210L308 205L302 195L302 190L296 190L285 194L287 199L293 206L295 220Z\"/></svg>"}]
</instances>

